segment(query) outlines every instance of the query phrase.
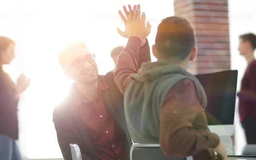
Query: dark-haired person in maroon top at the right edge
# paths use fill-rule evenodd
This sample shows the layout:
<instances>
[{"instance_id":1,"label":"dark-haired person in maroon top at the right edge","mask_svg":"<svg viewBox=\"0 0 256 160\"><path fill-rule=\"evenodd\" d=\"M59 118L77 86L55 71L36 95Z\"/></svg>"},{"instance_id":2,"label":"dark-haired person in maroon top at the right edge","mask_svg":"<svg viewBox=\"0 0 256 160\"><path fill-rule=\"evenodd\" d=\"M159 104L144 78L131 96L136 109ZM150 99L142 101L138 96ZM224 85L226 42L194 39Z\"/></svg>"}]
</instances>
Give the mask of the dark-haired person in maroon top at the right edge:
<instances>
[{"instance_id":1,"label":"dark-haired person in maroon top at the right edge","mask_svg":"<svg viewBox=\"0 0 256 160\"><path fill-rule=\"evenodd\" d=\"M247 69L241 81L239 116L247 144L256 144L256 35L249 33L239 36L239 52L247 61Z\"/></svg>"}]
</instances>

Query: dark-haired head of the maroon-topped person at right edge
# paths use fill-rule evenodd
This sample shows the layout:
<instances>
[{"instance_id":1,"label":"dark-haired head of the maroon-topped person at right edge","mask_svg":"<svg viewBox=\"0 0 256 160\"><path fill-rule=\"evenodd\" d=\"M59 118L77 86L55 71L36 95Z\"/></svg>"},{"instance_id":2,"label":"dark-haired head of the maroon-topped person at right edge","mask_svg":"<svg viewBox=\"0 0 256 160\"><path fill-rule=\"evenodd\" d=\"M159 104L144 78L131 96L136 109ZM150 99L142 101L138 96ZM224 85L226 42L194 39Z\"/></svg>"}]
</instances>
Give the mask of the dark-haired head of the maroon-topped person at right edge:
<instances>
[{"instance_id":1,"label":"dark-haired head of the maroon-topped person at right edge","mask_svg":"<svg viewBox=\"0 0 256 160\"><path fill-rule=\"evenodd\" d=\"M254 34L243 34L239 36L239 52L243 56L253 54L256 48L256 35Z\"/></svg>"}]
</instances>

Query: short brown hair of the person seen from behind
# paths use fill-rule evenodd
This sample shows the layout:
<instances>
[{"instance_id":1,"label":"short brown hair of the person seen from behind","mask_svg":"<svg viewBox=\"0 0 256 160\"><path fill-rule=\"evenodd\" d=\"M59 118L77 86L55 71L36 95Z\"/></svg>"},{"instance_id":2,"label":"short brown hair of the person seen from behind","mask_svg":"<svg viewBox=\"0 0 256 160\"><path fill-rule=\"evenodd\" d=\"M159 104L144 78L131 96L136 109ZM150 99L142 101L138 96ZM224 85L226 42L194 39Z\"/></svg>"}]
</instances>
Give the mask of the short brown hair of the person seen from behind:
<instances>
[{"instance_id":1,"label":"short brown hair of the person seen from behind","mask_svg":"<svg viewBox=\"0 0 256 160\"><path fill-rule=\"evenodd\" d=\"M181 17L167 17L158 25L155 45L159 57L180 62L195 47L194 30Z\"/></svg>"}]
</instances>

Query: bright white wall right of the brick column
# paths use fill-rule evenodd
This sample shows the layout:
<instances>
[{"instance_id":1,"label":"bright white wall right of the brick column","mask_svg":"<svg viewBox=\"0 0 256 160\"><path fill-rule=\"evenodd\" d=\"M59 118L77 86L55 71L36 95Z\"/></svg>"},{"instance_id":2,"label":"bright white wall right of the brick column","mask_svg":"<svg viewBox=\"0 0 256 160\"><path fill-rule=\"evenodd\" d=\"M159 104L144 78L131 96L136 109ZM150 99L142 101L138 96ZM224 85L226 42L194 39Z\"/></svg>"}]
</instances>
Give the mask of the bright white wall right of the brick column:
<instances>
[{"instance_id":1,"label":"bright white wall right of the brick column","mask_svg":"<svg viewBox=\"0 0 256 160\"><path fill-rule=\"evenodd\" d=\"M239 55L239 35L252 32L256 34L256 0L228 0L229 20L230 20L230 52L231 52L231 69L238 70L238 91L244 71L247 67L245 59ZM237 103L238 104L238 103ZM236 105L235 118L235 141L236 151L239 154L239 146L246 144L244 131L241 128L238 115L238 105Z\"/></svg>"}]
</instances>

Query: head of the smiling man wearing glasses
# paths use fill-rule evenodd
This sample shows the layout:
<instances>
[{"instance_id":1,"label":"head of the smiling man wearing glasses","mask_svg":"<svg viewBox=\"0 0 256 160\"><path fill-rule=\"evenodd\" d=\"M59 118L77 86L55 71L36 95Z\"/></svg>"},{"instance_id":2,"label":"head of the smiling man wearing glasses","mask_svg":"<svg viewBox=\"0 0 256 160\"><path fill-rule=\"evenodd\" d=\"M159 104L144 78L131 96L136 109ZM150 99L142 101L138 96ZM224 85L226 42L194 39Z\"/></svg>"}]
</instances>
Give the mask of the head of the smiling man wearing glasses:
<instances>
[{"instance_id":1,"label":"head of the smiling man wearing glasses","mask_svg":"<svg viewBox=\"0 0 256 160\"><path fill-rule=\"evenodd\" d=\"M91 54L83 42L74 42L59 54L59 62L68 78L81 84L98 81L98 67L95 55Z\"/></svg>"}]
</instances>

